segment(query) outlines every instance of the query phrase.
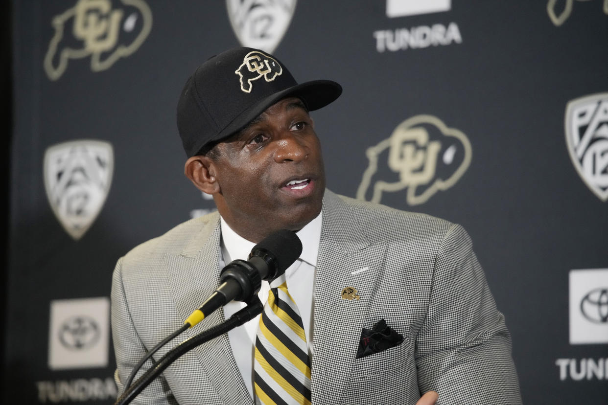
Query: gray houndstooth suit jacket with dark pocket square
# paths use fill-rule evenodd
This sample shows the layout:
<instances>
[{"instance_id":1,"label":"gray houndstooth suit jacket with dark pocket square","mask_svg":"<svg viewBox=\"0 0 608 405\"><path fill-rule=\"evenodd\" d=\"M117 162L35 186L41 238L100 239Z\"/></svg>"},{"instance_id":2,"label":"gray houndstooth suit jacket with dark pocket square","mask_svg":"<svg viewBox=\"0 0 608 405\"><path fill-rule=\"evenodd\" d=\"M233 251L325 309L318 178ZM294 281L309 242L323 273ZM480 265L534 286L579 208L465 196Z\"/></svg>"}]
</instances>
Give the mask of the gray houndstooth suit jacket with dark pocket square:
<instances>
[{"instance_id":1,"label":"gray houndstooth suit jacket with dark pocket square","mask_svg":"<svg viewBox=\"0 0 608 405\"><path fill-rule=\"evenodd\" d=\"M119 392L145 348L179 328L218 285L219 241L213 213L117 263L112 333ZM361 299L342 299L345 287ZM356 359L362 328L379 319L404 341ZM183 339L221 321L218 310ZM326 191L313 327L315 404L413 404L427 390L439 393L438 404L521 403L510 335L461 226ZM223 335L181 356L133 403L253 402Z\"/></svg>"}]
</instances>

